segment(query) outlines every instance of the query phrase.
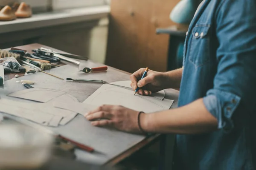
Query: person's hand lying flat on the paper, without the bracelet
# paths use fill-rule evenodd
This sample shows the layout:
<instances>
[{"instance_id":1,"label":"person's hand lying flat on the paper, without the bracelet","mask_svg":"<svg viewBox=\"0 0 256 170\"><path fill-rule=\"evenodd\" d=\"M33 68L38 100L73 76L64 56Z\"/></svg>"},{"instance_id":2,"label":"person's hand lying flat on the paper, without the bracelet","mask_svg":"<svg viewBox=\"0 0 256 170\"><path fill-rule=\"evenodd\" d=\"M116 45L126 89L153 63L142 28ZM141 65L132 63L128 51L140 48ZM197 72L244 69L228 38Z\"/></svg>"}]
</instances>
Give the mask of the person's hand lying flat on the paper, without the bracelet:
<instances>
[{"instance_id":1,"label":"person's hand lying flat on the paper, without the bracelet","mask_svg":"<svg viewBox=\"0 0 256 170\"><path fill-rule=\"evenodd\" d=\"M141 133L138 125L138 111L123 106L102 105L90 111L85 118L92 121L93 126L114 127L118 130Z\"/></svg>"}]
</instances>

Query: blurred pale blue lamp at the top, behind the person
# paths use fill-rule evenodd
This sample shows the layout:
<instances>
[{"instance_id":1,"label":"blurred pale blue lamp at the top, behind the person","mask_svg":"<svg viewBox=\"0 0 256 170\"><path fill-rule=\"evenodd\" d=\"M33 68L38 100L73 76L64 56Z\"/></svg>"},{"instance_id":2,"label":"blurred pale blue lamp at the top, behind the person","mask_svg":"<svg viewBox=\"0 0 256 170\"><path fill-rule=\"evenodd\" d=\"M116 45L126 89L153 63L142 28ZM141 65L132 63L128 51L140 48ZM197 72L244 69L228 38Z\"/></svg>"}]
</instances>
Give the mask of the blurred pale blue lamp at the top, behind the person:
<instances>
[{"instance_id":1,"label":"blurred pale blue lamp at the top, behind the person","mask_svg":"<svg viewBox=\"0 0 256 170\"><path fill-rule=\"evenodd\" d=\"M170 19L175 23L189 25L200 0L181 0L172 10Z\"/></svg>"}]
</instances>

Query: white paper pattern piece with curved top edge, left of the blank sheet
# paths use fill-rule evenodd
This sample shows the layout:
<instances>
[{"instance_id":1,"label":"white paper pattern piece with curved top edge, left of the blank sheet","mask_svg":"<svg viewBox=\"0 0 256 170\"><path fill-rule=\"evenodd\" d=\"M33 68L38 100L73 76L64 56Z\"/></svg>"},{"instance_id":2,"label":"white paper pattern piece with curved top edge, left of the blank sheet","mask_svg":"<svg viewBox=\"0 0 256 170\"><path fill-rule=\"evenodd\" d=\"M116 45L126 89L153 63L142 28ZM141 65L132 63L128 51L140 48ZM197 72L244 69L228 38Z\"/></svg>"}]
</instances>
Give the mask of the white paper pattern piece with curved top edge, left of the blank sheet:
<instances>
[{"instance_id":1,"label":"white paper pattern piece with curved top edge, left of the blank sheet","mask_svg":"<svg viewBox=\"0 0 256 170\"><path fill-rule=\"evenodd\" d=\"M75 97L71 96L70 94L67 94L66 92L47 88L29 88L8 94L8 96L43 103L49 102L51 100L67 101L67 99L69 101L72 100L78 102L78 100Z\"/></svg>"}]
</instances>

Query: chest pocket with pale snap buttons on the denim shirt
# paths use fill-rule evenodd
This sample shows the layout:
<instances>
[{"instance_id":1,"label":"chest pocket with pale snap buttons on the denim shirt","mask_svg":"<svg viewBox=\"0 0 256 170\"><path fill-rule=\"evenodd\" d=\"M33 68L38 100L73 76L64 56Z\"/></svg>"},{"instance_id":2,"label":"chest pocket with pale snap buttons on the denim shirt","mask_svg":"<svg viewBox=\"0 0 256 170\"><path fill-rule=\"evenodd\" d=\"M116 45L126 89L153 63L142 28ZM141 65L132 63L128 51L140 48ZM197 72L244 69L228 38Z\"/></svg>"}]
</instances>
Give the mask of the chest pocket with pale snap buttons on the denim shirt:
<instances>
[{"instance_id":1,"label":"chest pocket with pale snap buttons on the denim shirt","mask_svg":"<svg viewBox=\"0 0 256 170\"><path fill-rule=\"evenodd\" d=\"M196 25L192 29L192 38L189 48L189 61L200 67L210 60L210 25Z\"/></svg>"}]
</instances>

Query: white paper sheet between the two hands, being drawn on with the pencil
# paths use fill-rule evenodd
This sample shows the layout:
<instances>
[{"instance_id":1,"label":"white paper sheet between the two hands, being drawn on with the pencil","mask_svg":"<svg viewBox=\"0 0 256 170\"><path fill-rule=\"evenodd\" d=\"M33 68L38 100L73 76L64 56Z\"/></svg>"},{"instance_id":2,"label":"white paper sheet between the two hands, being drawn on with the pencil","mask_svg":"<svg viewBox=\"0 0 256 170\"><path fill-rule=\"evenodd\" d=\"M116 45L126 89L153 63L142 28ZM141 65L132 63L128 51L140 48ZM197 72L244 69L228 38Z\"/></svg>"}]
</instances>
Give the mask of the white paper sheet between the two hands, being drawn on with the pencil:
<instances>
[{"instance_id":1,"label":"white paper sheet between the two hands, being drawn on with the pencil","mask_svg":"<svg viewBox=\"0 0 256 170\"><path fill-rule=\"evenodd\" d=\"M137 111L152 113L168 110L173 103L169 99L157 99L154 96L134 95L134 91L104 84L88 97L84 104L89 105L122 105Z\"/></svg>"}]
</instances>

